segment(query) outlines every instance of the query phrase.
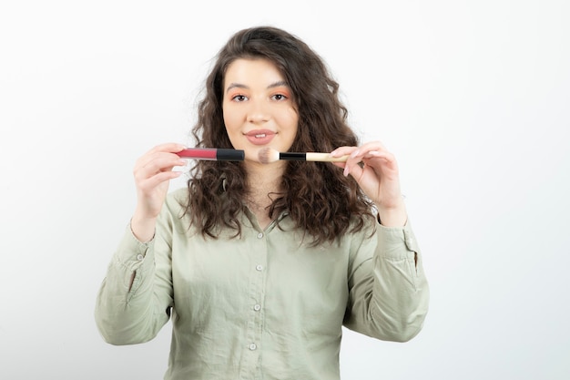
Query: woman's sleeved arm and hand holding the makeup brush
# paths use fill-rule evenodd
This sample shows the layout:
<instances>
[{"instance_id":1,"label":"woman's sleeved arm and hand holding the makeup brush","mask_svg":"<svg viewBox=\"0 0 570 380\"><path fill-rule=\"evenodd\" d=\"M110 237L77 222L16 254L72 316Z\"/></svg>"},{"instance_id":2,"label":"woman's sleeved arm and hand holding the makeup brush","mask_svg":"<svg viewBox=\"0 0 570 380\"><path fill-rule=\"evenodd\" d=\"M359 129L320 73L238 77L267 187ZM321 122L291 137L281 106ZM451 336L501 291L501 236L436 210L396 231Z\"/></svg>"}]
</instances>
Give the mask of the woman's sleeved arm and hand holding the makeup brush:
<instances>
[{"instance_id":1,"label":"woman's sleeved arm and hand holding the makeup brush","mask_svg":"<svg viewBox=\"0 0 570 380\"><path fill-rule=\"evenodd\" d=\"M377 224L372 239L352 249L345 324L363 334L404 342L422 329L429 290L407 221L398 164L379 141L331 152L332 157L346 154L349 159L337 166L374 202L382 224Z\"/></svg>"}]
</instances>

